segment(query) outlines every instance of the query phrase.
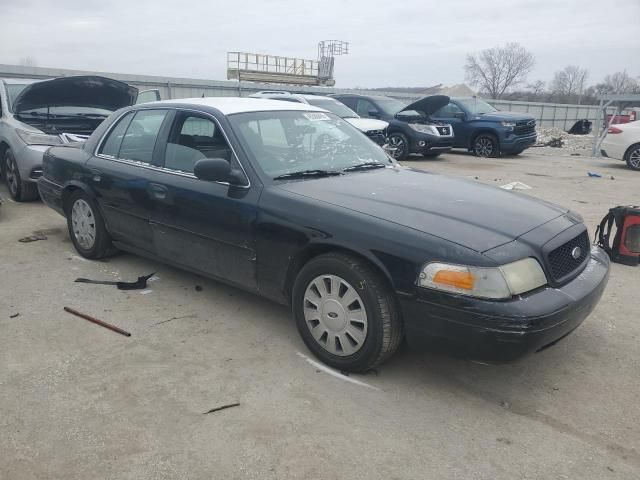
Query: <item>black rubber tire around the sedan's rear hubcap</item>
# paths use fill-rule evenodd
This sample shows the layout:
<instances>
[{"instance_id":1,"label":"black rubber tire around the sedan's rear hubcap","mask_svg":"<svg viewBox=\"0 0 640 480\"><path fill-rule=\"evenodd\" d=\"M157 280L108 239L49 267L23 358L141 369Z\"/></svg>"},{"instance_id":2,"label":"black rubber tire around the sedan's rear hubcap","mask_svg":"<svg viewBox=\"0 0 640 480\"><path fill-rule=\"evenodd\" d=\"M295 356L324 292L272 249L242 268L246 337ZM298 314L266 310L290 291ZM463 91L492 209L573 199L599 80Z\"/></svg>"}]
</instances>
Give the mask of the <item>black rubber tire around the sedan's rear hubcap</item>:
<instances>
[{"instance_id":1,"label":"black rubber tire around the sedan's rear hubcap","mask_svg":"<svg viewBox=\"0 0 640 480\"><path fill-rule=\"evenodd\" d=\"M76 203L81 205L79 201L83 201L90 209L90 218L93 220L95 228L94 240L91 245L82 245L80 236L74 231L73 208ZM104 225L104 220L98 210L96 203L89 195L82 190L73 192L65 202L65 214L67 217L67 228L69 229L69 237L73 242L73 246L80 255L85 258L96 260L104 258L115 253L115 248L111 244L111 237Z\"/></svg>"}]
</instances>

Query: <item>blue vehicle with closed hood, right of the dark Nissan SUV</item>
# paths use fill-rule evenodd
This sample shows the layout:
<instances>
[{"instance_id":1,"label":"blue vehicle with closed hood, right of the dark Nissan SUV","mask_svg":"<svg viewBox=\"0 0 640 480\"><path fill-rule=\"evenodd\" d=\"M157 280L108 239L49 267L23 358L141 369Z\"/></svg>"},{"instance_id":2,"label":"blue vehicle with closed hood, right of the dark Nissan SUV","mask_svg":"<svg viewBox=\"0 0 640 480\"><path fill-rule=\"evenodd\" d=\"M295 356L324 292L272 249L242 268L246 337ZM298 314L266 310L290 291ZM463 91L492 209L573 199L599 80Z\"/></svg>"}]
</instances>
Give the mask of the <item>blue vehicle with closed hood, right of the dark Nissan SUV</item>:
<instances>
[{"instance_id":1,"label":"blue vehicle with closed hood, right of the dark Nissan SUV","mask_svg":"<svg viewBox=\"0 0 640 480\"><path fill-rule=\"evenodd\" d=\"M478 98L452 98L431 118L451 124L454 146L478 157L518 155L536 143L535 118L502 112Z\"/></svg>"}]
</instances>

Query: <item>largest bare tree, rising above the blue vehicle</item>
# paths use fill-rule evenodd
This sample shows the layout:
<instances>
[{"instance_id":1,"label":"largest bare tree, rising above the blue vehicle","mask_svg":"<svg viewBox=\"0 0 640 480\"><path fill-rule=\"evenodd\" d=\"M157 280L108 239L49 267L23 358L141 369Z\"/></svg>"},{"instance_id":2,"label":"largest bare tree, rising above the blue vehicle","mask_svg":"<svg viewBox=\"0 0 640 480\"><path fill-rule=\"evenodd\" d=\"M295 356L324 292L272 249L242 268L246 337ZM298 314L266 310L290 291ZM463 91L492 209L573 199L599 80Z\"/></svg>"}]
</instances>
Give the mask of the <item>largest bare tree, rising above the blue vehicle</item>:
<instances>
[{"instance_id":1,"label":"largest bare tree, rising above the blue vehicle","mask_svg":"<svg viewBox=\"0 0 640 480\"><path fill-rule=\"evenodd\" d=\"M525 81L535 58L519 43L507 43L467 55L467 81L491 98L502 97L509 88Z\"/></svg>"}]
</instances>

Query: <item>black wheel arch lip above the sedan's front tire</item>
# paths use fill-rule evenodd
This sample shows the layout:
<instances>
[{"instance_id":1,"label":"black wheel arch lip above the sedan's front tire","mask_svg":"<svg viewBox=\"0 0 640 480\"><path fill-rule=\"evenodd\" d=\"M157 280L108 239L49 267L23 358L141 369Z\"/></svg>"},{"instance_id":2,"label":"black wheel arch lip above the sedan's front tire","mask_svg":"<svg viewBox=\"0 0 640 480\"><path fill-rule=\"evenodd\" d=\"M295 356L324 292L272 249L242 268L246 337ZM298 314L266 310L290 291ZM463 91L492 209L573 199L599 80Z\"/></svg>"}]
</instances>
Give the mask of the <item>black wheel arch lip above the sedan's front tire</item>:
<instances>
[{"instance_id":1,"label":"black wheel arch lip above the sedan's front tire","mask_svg":"<svg viewBox=\"0 0 640 480\"><path fill-rule=\"evenodd\" d=\"M307 245L304 249L298 252L289 262L287 266L287 274L285 276L284 283L284 294L287 301L291 302L291 295L293 293L293 285L295 283L296 277L300 270L320 255L324 255L326 253L342 253L345 255L349 255L351 257L362 260L367 263L370 267L372 267L376 272L378 272L387 284L387 286L395 291L394 282L389 273L389 270L384 266L384 264L376 258L372 254L368 254L366 252L358 251L353 248L345 247L339 244L331 244L331 243L313 243Z\"/></svg>"}]
</instances>

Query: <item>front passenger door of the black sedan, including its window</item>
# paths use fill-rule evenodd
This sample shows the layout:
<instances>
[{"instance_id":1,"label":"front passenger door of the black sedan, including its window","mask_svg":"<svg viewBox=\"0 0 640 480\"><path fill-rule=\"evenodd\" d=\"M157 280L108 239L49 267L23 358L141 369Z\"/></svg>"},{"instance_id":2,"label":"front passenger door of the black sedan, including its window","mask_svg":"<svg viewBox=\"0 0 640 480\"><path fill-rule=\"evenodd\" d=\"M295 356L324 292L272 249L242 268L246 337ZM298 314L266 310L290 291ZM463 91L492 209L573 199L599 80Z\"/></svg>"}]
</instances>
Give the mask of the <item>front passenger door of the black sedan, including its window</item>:
<instances>
[{"instance_id":1,"label":"front passenger door of the black sedan, including its window","mask_svg":"<svg viewBox=\"0 0 640 480\"><path fill-rule=\"evenodd\" d=\"M210 116L178 112L164 153L164 169L150 188L159 256L208 276L256 288L253 225L257 186L229 186L193 175L202 158L224 158L240 168L218 123Z\"/></svg>"}]
</instances>

